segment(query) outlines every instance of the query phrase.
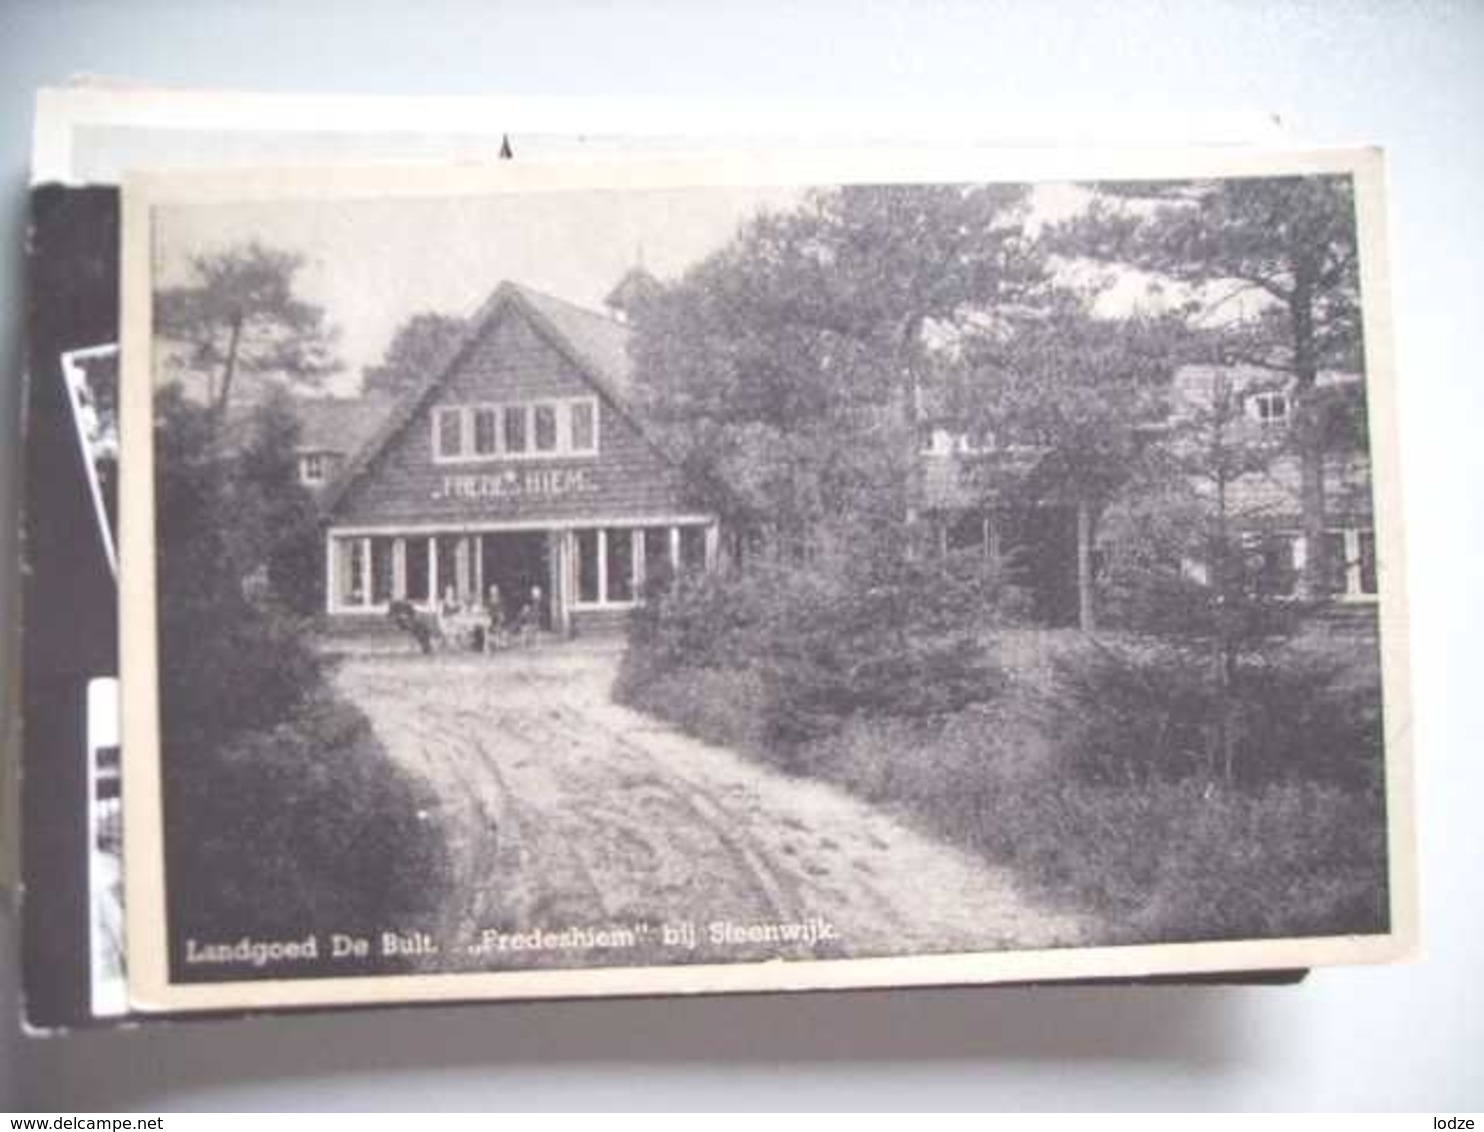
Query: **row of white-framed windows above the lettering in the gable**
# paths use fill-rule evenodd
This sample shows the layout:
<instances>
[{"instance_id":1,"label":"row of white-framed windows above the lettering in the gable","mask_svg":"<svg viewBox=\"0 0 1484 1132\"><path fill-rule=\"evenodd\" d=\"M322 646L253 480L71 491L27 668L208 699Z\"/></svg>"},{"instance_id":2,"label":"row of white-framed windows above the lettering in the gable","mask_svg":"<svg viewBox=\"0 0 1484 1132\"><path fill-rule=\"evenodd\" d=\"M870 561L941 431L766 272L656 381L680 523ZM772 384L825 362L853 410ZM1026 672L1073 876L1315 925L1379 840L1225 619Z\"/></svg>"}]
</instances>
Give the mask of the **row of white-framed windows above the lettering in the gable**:
<instances>
[{"instance_id":1,"label":"row of white-framed windows above the lettering in the gable","mask_svg":"<svg viewBox=\"0 0 1484 1132\"><path fill-rule=\"evenodd\" d=\"M433 460L438 463L595 455L597 451L597 398L441 405L433 412Z\"/></svg>"}]
</instances>

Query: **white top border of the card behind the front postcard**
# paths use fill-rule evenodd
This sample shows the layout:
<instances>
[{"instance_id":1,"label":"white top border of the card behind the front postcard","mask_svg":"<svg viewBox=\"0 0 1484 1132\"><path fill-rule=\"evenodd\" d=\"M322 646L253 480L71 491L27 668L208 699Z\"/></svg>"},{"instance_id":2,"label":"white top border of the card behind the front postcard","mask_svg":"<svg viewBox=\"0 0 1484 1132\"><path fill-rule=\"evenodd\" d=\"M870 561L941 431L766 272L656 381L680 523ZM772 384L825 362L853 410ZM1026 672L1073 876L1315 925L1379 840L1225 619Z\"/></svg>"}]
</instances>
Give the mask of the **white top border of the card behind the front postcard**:
<instances>
[{"instance_id":1,"label":"white top border of the card behind the front postcard","mask_svg":"<svg viewBox=\"0 0 1484 1132\"><path fill-rule=\"evenodd\" d=\"M432 125L430 125L432 123ZM803 104L758 99L347 95L203 91L95 80L45 88L36 96L31 181L79 181L79 132L191 132L289 138L340 134L384 142L396 160L404 139L436 129L464 136L490 159L502 136L564 138L610 157L625 151L720 144L911 145L1278 145L1284 125L1266 111L1006 111L972 105ZM187 144L188 150L188 144ZM187 159L187 165L196 165Z\"/></svg>"}]
</instances>

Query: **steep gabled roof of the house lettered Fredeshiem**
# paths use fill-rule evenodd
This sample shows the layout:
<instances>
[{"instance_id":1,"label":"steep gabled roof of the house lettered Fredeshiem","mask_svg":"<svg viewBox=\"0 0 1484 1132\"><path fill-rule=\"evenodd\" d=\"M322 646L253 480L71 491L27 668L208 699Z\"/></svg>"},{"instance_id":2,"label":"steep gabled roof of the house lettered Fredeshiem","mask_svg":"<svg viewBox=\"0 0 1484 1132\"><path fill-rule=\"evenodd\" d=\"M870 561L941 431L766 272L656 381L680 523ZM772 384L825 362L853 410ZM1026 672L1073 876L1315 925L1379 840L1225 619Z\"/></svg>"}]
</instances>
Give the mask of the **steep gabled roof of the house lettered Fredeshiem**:
<instances>
[{"instance_id":1,"label":"steep gabled roof of the house lettered Fredeshiem","mask_svg":"<svg viewBox=\"0 0 1484 1132\"><path fill-rule=\"evenodd\" d=\"M524 316L537 334L571 363L577 375L598 390L656 453L666 460L669 458L628 408L629 377L632 374L628 328L597 312L506 280L475 312L464 332L429 369L427 377L396 402L381 427L350 458L344 472L325 491L324 512L326 515L340 506L340 501L371 469L381 451L413 423L485 331L512 310Z\"/></svg>"}]
</instances>

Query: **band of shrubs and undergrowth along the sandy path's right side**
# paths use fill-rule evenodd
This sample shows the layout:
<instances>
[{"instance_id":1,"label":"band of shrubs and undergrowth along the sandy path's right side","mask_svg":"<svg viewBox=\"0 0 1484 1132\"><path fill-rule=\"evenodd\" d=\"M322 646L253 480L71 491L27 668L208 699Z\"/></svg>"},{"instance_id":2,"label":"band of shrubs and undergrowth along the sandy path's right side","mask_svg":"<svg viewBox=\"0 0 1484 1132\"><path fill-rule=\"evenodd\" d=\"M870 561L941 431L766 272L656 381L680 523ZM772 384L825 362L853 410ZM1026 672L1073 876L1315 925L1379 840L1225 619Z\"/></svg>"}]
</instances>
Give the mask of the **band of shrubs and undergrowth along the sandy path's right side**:
<instances>
[{"instance_id":1,"label":"band of shrubs and undergrowth along the sandy path's right side","mask_svg":"<svg viewBox=\"0 0 1484 1132\"><path fill-rule=\"evenodd\" d=\"M689 579L637 622L619 694L1012 866L1091 915L1088 942L1385 930L1380 720L1353 656L1248 657L1223 699L1190 645L1020 631L996 650L994 619L960 607L930 662L847 668L889 648L859 629L889 623L871 608L818 579Z\"/></svg>"}]
</instances>

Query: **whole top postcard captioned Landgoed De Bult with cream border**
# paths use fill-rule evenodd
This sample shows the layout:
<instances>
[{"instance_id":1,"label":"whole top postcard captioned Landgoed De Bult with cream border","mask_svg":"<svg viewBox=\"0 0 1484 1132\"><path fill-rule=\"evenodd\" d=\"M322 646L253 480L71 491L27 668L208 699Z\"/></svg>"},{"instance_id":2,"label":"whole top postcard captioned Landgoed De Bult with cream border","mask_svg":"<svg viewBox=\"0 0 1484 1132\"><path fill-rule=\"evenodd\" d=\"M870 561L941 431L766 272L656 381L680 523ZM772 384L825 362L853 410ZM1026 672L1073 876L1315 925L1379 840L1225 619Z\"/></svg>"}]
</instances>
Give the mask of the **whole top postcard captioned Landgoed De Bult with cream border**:
<instances>
[{"instance_id":1,"label":"whole top postcard captioned Landgoed De Bult with cream border","mask_svg":"<svg viewBox=\"0 0 1484 1132\"><path fill-rule=\"evenodd\" d=\"M134 1009L1410 952L1379 153L123 214Z\"/></svg>"}]
</instances>

